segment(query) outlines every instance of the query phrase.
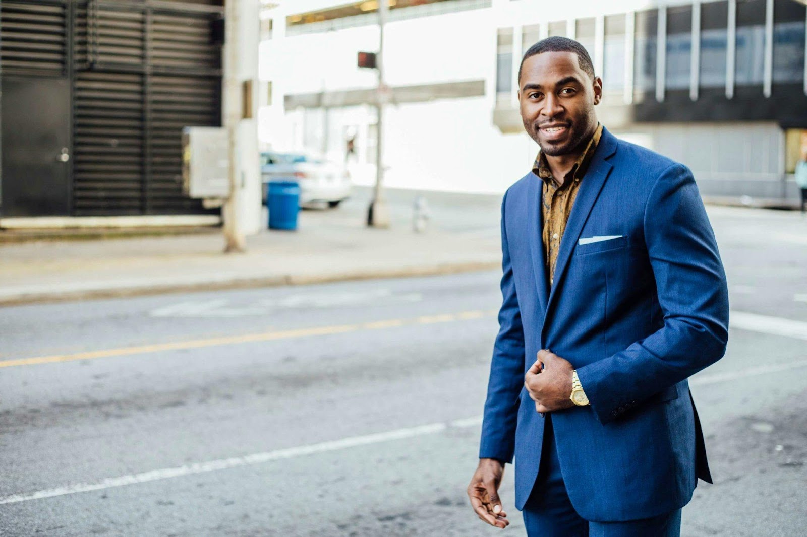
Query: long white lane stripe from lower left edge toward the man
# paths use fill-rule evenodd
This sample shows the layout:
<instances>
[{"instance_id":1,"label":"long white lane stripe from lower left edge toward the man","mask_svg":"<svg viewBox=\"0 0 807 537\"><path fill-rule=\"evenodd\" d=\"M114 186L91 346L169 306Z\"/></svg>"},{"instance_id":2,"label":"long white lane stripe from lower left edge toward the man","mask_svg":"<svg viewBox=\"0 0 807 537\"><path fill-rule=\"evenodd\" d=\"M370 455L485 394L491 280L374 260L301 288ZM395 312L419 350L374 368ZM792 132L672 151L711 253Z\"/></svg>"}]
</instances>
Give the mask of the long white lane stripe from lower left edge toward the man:
<instances>
[{"instance_id":1,"label":"long white lane stripe from lower left edge toward the man","mask_svg":"<svg viewBox=\"0 0 807 537\"><path fill-rule=\"evenodd\" d=\"M406 429L397 429L395 431L386 431L382 433L375 433L373 435L353 436L351 438L332 440L330 442L314 443L307 446L299 446L298 448L278 449L274 452L253 453L252 455L232 457L230 459L209 460L203 463L185 464L176 468L162 468L159 470L136 473L122 477L108 477L107 479L97 481L95 483L80 483L77 485L57 487L56 489L38 490L34 493L13 494L11 496L0 497L0 505L6 503L28 502L29 500L38 500L45 497L56 497L65 496L68 494L90 492L92 490L114 489L115 487L122 487L124 485L148 483L149 481L161 481L163 479L171 479L173 477L190 476L196 473L215 472L216 470L238 468L240 466L249 466L250 464L261 464L270 462L272 460L291 459L293 457L307 456L315 453L334 452L341 449L357 448L359 446L366 446L373 443L389 442L391 440L407 439L415 436L433 435L435 433L445 431L449 427L474 427L479 425L479 423L482 423L481 417L458 419L449 424L431 423L429 425L421 425L420 427L408 427Z\"/></svg>"}]
</instances>

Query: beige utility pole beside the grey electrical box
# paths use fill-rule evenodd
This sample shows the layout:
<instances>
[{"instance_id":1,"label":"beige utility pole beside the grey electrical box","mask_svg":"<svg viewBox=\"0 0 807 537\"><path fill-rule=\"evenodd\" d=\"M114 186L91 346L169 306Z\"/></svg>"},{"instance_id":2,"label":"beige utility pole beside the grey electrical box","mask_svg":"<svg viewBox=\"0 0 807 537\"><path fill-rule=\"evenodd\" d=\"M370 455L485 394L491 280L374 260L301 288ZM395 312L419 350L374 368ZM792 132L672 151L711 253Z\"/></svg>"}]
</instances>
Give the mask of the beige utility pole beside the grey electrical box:
<instances>
[{"instance_id":1,"label":"beige utility pole beside the grey electrical box","mask_svg":"<svg viewBox=\"0 0 807 537\"><path fill-rule=\"evenodd\" d=\"M240 0L225 0L224 2L224 127L227 129L227 156L229 159L229 196L224 201L221 210L224 219L224 252L245 252L246 240L241 229L240 196L241 186L237 135L238 124L243 118L244 106L241 95L241 82L239 77L240 39L239 26ZM256 13L257 17L257 13Z\"/></svg>"}]
</instances>

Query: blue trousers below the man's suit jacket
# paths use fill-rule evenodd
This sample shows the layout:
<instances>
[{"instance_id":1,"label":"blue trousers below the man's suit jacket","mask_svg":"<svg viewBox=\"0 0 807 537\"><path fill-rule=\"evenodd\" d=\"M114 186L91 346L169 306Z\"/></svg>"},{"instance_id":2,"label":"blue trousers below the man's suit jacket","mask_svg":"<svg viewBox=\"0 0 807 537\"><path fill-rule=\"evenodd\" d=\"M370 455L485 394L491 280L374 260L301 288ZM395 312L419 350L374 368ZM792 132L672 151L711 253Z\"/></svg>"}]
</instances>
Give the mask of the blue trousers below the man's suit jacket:
<instances>
[{"instance_id":1,"label":"blue trousers below the man's suit jacket","mask_svg":"<svg viewBox=\"0 0 807 537\"><path fill-rule=\"evenodd\" d=\"M679 537L681 510L627 522L589 522L569 501L558 463L551 414L546 429L538 477L524 506L528 537Z\"/></svg>"}]
</instances>

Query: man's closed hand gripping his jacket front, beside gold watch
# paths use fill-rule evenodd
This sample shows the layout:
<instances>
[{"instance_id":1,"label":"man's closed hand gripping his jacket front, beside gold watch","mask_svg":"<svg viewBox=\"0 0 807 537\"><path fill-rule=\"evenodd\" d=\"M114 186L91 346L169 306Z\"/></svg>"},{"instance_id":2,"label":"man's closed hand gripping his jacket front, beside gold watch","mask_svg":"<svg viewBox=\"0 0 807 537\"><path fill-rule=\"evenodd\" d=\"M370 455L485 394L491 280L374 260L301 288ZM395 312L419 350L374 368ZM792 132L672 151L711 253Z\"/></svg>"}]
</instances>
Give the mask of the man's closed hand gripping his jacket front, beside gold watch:
<instances>
[{"instance_id":1,"label":"man's closed hand gripping his jacket front, beside gold watch","mask_svg":"<svg viewBox=\"0 0 807 537\"><path fill-rule=\"evenodd\" d=\"M574 368L554 352L538 351L538 359L524 377L529 398L538 412L575 406L571 402L571 372Z\"/></svg>"}]
</instances>

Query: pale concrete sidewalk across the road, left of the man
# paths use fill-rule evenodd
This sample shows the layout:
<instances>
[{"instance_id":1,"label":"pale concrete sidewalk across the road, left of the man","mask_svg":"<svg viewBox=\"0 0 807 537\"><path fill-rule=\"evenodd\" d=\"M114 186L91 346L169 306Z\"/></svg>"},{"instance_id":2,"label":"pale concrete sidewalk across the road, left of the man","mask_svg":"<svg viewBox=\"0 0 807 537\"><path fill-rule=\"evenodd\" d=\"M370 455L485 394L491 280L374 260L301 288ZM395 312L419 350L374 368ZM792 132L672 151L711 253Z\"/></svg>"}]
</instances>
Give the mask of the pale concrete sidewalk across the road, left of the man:
<instances>
[{"instance_id":1,"label":"pale concrete sidewalk across the road, left of the man","mask_svg":"<svg viewBox=\"0 0 807 537\"><path fill-rule=\"evenodd\" d=\"M298 231L263 231L224 254L220 230L130 239L0 244L0 305L188 290L295 285L493 269L499 196L424 193L432 221L412 231L417 193L390 191L393 225L364 225L369 190L337 210L303 210Z\"/></svg>"}]
</instances>

